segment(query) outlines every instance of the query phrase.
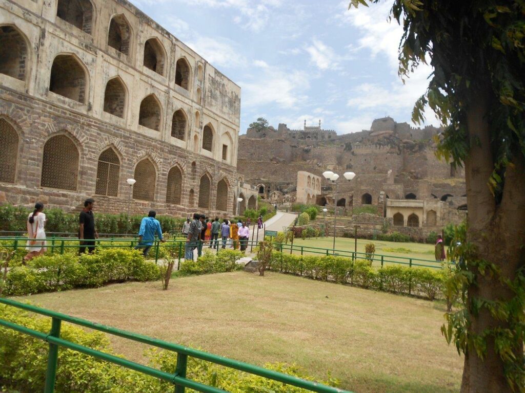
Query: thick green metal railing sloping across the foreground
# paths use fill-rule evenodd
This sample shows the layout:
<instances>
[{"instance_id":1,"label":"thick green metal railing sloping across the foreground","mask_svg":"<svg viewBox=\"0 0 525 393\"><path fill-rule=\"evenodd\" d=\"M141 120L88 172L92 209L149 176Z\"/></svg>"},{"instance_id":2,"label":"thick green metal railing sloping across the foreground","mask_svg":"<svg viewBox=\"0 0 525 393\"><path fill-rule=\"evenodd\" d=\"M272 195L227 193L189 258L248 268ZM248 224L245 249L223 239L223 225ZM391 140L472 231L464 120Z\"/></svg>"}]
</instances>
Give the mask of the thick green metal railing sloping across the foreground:
<instances>
[{"instance_id":1,"label":"thick green metal railing sloping across the foreground","mask_svg":"<svg viewBox=\"0 0 525 393\"><path fill-rule=\"evenodd\" d=\"M194 389L204 393L224 393L225 390L218 389L216 387L204 385L194 380L186 378L186 367L188 357L194 357L202 359L206 362L211 362L228 368L234 368L245 373L254 374L263 378L272 379L275 381L282 382L283 384L296 386L309 391L320 392L320 393L351 393L348 390L342 390L322 384L318 384L312 381L307 381L298 377L282 374L266 368L254 366L251 364L237 362L226 357L217 356L203 351L198 351L193 348L189 348L179 344L168 343L162 340L152 339L151 337L144 336L141 334L131 333L124 330L111 328L110 326L93 323L74 316L58 313L51 310L35 307L34 305L19 303L14 300L0 298L0 303L16 307L18 309L35 312L41 315L49 316L51 320L51 330L49 333L39 332L33 329L26 328L25 326L18 325L13 322L5 321L0 319L0 326L4 326L8 329L13 329L17 332L27 334L49 343L49 352L47 358L47 372L45 380L44 393L53 393L55 389L55 379L57 374L57 360L59 347L69 348L70 350L77 351L89 356L96 357L106 362L114 363L119 366L135 370L139 373L149 375L161 380L167 381L174 385L175 393L184 393L185 388ZM167 373L162 370L144 366L139 363L131 362L127 359L110 355L104 352L93 350L92 348L72 343L68 340L60 338L60 326L63 322L69 322L76 325L83 326L85 328L98 330L100 332L109 333L124 339L140 342L143 344L152 345L164 350L172 351L177 353L177 364L175 373Z\"/></svg>"}]
</instances>

